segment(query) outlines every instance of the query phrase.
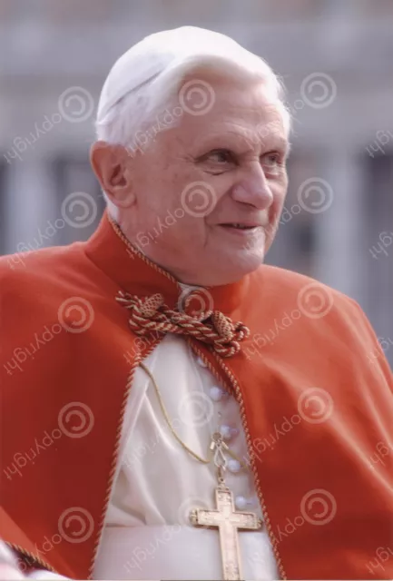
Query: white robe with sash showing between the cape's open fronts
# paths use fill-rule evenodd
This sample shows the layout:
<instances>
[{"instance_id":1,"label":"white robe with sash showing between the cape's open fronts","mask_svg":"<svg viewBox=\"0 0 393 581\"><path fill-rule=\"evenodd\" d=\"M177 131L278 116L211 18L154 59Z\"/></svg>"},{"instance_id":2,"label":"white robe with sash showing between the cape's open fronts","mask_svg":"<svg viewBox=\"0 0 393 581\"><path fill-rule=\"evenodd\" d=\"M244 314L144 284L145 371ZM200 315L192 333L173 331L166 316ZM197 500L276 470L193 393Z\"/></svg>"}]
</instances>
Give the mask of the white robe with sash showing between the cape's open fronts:
<instances>
[{"instance_id":1,"label":"white robe with sash showing between the cape's open fronts","mask_svg":"<svg viewBox=\"0 0 393 581\"><path fill-rule=\"evenodd\" d=\"M206 458L211 434L227 425L239 430L226 440L228 446L247 458L236 400L229 395L211 399L217 382L185 340L167 335L144 364L176 432L194 452ZM218 393L213 389L214 396ZM225 480L235 497L252 502L242 510L262 517L251 469L227 470ZM192 527L189 521L192 508L215 508L216 485L215 468L192 458L176 441L151 379L136 369L93 578L221 579L218 530ZM240 531L239 538L243 578L280 578L264 527Z\"/></svg>"}]
</instances>

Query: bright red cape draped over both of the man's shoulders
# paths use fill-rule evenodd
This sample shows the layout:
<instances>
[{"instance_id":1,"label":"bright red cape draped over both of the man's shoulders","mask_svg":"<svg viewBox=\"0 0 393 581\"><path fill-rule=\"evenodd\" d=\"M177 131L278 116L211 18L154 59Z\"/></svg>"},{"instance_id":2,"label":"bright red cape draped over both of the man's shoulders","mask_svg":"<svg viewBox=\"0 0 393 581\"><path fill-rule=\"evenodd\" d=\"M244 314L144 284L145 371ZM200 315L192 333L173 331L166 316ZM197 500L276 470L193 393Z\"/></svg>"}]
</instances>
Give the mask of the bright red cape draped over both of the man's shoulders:
<instances>
[{"instance_id":1,"label":"bright red cape draped over both of the man's shoulders","mask_svg":"<svg viewBox=\"0 0 393 581\"><path fill-rule=\"evenodd\" d=\"M158 341L133 335L115 297L160 292L176 308L181 288L127 249L106 214L89 241L24 262L0 261L0 536L35 563L86 578L133 369ZM364 313L266 265L209 293L214 310L251 330L228 359L191 344L240 403L280 576L393 578L392 375Z\"/></svg>"}]
</instances>

